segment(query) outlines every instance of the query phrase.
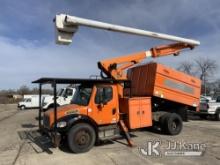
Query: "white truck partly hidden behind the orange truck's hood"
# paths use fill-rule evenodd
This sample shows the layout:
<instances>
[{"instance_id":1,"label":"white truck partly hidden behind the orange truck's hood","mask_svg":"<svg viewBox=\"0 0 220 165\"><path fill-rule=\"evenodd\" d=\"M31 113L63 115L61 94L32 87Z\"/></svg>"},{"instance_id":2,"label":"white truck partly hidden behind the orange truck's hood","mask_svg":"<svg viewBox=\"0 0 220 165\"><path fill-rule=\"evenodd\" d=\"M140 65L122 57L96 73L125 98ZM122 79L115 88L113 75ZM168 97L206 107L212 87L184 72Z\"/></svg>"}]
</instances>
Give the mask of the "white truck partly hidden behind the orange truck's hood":
<instances>
[{"instance_id":1,"label":"white truck partly hidden behind the orange truck's hood","mask_svg":"<svg viewBox=\"0 0 220 165\"><path fill-rule=\"evenodd\" d=\"M76 87L62 88L57 93L57 106L70 104L75 94ZM42 108L46 111L54 107L54 96L44 97L42 100Z\"/></svg>"}]
</instances>

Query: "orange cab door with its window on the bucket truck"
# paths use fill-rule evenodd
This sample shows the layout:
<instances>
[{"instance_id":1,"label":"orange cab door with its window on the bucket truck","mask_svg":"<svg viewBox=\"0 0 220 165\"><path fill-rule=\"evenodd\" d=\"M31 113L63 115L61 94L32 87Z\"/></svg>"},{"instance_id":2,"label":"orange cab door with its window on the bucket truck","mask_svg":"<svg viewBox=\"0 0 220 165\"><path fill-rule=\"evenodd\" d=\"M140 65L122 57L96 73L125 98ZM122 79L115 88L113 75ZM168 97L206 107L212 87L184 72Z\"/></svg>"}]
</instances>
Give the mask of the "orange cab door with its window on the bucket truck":
<instances>
[{"instance_id":1,"label":"orange cab door with its window on the bucket truck","mask_svg":"<svg viewBox=\"0 0 220 165\"><path fill-rule=\"evenodd\" d=\"M93 119L97 124L113 124L119 120L117 88L114 85L95 86Z\"/></svg>"}]
</instances>

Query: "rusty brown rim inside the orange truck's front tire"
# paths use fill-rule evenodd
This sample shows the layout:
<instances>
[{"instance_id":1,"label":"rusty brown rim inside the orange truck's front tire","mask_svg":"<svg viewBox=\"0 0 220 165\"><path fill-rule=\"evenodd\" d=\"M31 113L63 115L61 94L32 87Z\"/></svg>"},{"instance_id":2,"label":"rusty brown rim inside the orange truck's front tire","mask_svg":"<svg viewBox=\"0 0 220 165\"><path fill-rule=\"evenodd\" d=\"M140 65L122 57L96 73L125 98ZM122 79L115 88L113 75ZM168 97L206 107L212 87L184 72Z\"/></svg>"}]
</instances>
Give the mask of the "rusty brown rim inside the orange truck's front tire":
<instances>
[{"instance_id":1,"label":"rusty brown rim inside the orange truck's front tire","mask_svg":"<svg viewBox=\"0 0 220 165\"><path fill-rule=\"evenodd\" d=\"M84 148L87 147L90 144L90 134L87 130L79 130L76 133L76 136L74 138L74 143L80 147Z\"/></svg>"}]
</instances>

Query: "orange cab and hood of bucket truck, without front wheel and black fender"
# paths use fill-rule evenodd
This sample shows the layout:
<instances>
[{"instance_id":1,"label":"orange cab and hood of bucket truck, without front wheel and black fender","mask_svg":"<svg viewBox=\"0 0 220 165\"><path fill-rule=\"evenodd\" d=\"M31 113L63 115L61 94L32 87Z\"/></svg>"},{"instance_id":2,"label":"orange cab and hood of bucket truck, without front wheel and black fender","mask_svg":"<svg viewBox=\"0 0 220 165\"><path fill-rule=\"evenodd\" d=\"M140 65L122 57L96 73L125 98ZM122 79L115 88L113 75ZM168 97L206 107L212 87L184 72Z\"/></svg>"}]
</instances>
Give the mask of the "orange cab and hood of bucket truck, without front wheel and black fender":
<instances>
[{"instance_id":1,"label":"orange cab and hood of bucket truck, without front wheel and black fender","mask_svg":"<svg viewBox=\"0 0 220 165\"><path fill-rule=\"evenodd\" d=\"M65 121L70 126L72 123L68 123L67 118L81 116L95 125L115 124L119 120L118 100L116 84L82 84L76 89L70 105L57 108L57 120ZM47 127L51 128L54 123L53 109L45 112L44 116L49 118Z\"/></svg>"}]
</instances>

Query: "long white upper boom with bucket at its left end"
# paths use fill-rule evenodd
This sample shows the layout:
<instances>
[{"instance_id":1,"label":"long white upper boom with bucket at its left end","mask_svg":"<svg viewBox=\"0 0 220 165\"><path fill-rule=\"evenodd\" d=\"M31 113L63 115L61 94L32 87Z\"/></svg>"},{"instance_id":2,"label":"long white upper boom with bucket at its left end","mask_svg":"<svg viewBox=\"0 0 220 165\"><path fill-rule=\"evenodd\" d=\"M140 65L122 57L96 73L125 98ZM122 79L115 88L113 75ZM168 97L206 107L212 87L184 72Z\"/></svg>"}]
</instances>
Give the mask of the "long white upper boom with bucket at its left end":
<instances>
[{"instance_id":1,"label":"long white upper boom with bucket at its left end","mask_svg":"<svg viewBox=\"0 0 220 165\"><path fill-rule=\"evenodd\" d=\"M66 14L56 15L55 18L57 44L70 44L72 42L72 37L74 33L77 32L79 26L86 26L90 28L97 28L97 29L127 33L127 34L139 35L139 36L147 36L152 38L169 40L173 42L187 43L194 46L200 45L199 41L195 41L188 38L182 38L182 37L177 37L163 33L157 33L147 30L109 24L105 22L94 21L94 20L79 18L75 16L69 16Z\"/></svg>"}]
</instances>

